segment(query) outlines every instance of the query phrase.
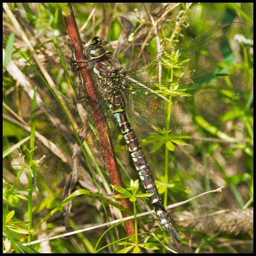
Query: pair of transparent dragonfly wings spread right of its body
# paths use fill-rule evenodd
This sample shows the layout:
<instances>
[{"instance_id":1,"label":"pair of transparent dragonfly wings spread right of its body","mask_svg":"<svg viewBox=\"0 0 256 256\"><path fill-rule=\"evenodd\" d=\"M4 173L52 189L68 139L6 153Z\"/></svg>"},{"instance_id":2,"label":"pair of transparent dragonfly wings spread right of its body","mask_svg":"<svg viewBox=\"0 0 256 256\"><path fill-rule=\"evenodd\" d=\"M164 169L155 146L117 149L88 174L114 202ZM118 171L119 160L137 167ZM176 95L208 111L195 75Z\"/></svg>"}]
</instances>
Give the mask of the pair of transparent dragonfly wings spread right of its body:
<instances>
[{"instance_id":1,"label":"pair of transparent dragonfly wings spread right of its body","mask_svg":"<svg viewBox=\"0 0 256 256\"><path fill-rule=\"evenodd\" d=\"M131 119L140 126L163 128L168 102L171 128L189 124L193 113L211 119L223 113L225 90L232 90L228 87L231 76L226 74L228 69L218 69L218 65L234 58L234 36L242 27L238 22L221 25L128 68L126 91Z\"/></svg>"}]
</instances>

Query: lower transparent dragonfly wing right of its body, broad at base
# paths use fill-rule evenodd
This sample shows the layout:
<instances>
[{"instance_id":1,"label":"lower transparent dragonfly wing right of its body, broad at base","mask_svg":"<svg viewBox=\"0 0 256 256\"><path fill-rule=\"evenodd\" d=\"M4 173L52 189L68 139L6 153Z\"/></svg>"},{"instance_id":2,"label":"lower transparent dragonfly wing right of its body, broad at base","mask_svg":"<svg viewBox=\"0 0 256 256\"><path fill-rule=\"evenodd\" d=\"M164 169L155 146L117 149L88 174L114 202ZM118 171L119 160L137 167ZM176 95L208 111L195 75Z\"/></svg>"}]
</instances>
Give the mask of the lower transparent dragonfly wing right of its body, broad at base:
<instances>
[{"instance_id":1,"label":"lower transparent dragonfly wing right of its body, broad at base","mask_svg":"<svg viewBox=\"0 0 256 256\"><path fill-rule=\"evenodd\" d=\"M164 129L168 110L171 129L190 124L195 115L201 115L209 122L218 121L220 115L229 109L228 103L239 97L228 87L230 83L236 83L235 77L223 74L173 82L165 92L149 83L153 92L137 89L136 93L129 94L129 117L148 129ZM131 83L129 86L134 89L138 84Z\"/></svg>"}]
</instances>

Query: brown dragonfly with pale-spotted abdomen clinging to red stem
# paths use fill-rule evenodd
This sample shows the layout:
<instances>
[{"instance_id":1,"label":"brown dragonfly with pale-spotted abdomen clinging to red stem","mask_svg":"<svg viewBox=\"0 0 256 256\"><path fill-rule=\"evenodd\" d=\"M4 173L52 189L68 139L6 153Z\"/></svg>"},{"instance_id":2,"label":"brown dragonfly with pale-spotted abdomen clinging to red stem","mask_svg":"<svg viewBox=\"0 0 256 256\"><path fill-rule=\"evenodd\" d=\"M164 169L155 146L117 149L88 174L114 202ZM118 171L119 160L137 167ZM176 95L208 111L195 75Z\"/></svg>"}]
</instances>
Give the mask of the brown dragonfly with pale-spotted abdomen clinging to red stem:
<instances>
[{"instance_id":1,"label":"brown dragonfly with pale-spotted abdomen clinging to red stem","mask_svg":"<svg viewBox=\"0 0 256 256\"><path fill-rule=\"evenodd\" d=\"M127 68L112 58L113 47L99 37L93 37L85 45L85 60L71 59L73 63L84 62L89 69L99 95L98 104L107 117L111 116L111 122L118 124L140 181L150 194L151 205L174 243L180 242L180 236L158 194L154 176L130 121L142 127L168 130L192 122L190 113L209 118L218 116L227 99L231 100L227 95L227 81L232 78L218 68L218 63L234 57L237 47L234 36L241 27L239 22L225 23ZM80 89L76 100L86 101L86 97L86 92ZM76 100L73 96L66 98L68 105ZM166 109L170 107L168 117ZM97 115L97 111L91 109L78 133L86 137Z\"/></svg>"}]
</instances>

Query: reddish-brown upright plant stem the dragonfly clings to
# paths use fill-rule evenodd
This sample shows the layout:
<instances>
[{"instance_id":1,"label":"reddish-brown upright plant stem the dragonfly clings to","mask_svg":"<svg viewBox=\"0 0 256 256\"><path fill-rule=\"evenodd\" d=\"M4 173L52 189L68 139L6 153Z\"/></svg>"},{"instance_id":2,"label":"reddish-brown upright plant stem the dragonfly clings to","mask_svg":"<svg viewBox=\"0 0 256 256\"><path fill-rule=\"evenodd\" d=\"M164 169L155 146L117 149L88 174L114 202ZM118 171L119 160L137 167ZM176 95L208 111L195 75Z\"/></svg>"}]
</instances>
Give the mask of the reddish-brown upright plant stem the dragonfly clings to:
<instances>
[{"instance_id":1,"label":"reddish-brown upright plant stem the dragonfly clings to","mask_svg":"<svg viewBox=\"0 0 256 256\"><path fill-rule=\"evenodd\" d=\"M64 20L65 20L66 26L67 26L68 35L73 44L73 47L75 47L76 44L78 43L77 47L76 47L76 51L75 51L76 60L84 60L83 45L81 43L81 38L80 38L79 31L78 31L78 28L76 25L74 12L73 12L73 9L72 9L72 6L70 3L68 3L68 7L70 10L70 15L64 17ZM89 70L86 68L85 62L78 62L77 67L78 68L84 67L80 70L80 72L81 72L81 76L84 81L87 98L89 99L91 108L93 110L97 109L97 115L94 118L94 122L95 122L95 126L97 127L97 130L99 132L99 138L100 138L100 142L101 142L101 146L102 146L102 152L103 152L103 155L106 160L106 165L107 165L107 169L109 172L111 183L113 185L123 187L121 175L118 170L117 163L116 163L113 145L110 141L108 124L106 122L105 115L102 113L102 110L98 104L97 89L95 88L95 86L93 84L92 77L90 75ZM124 199L124 198L119 199L119 204L121 204L125 208L132 211L131 205L127 199ZM127 216L128 216L128 214L123 213L123 217L127 217ZM134 235L133 221L125 222L125 227L126 227L127 235Z\"/></svg>"}]
</instances>

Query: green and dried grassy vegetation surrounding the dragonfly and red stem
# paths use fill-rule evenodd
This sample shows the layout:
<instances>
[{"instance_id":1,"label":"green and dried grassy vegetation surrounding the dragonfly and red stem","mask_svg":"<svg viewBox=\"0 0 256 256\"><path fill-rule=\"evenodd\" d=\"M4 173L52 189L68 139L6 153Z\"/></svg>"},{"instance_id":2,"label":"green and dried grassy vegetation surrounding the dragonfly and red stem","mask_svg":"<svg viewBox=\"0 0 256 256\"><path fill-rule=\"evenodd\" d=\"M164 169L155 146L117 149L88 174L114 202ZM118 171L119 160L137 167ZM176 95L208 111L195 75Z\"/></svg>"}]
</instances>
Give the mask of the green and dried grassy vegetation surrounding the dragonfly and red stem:
<instances>
[{"instance_id":1,"label":"green and dried grassy vegetation surrounding the dragonfly and red stem","mask_svg":"<svg viewBox=\"0 0 256 256\"><path fill-rule=\"evenodd\" d=\"M163 113L165 129L155 126L148 132L147 123L142 128L134 124L133 129L164 205L225 186L221 193L209 193L172 208L173 226L181 237L180 252L252 253L253 43L249 39L253 38L253 3L72 6L82 40L87 42L95 35L108 40L114 47L114 58L124 67L222 23L244 23L244 35L234 55L216 67L218 73L232 78L223 79L227 88L220 90L228 110L214 113L212 109L219 117L217 122L195 111L193 123L178 129L169 126L175 95L190 97L190 92L170 87L164 93L169 99ZM124 188L114 186L120 195L114 196L111 189L95 127L89 127L91 133L83 147L79 143L83 154L77 153L73 141L66 142L69 123L79 139L81 134L76 130L84 122L82 115L73 118L76 109L63 100L81 89L78 74L69 64L72 49L62 17L68 13L66 4L3 4L3 252L172 252L169 234L155 214L138 217L152 206L137 182L138 173L111 117L107 121L125 184ZM181 76L178 70L188 61L174 61L175 65L168 67L170 61L164 59L163 68L170 69L166 80L172 82L174 76ZM219 100L203 97L202 108L208 100ZM42 110L42 101L51 106L49 111ZM90 115L89 106L83 107L85 115ZM83 163L77 164L81 158ZM69 180L68 174L75 169L79 182L62 198L63 180ZM132 211L120 206L118 198L130 199ZM65 218L63 213L70 207L72 214ZM126 234L124 221L104 225L121 218L121 212L135 216L134 236ZM71 231L88 229L68 234L64 222ZM97 228L91 229L94 226ZM65 233L65 238L35 242Z\"/></svg>"}]
</instances>

